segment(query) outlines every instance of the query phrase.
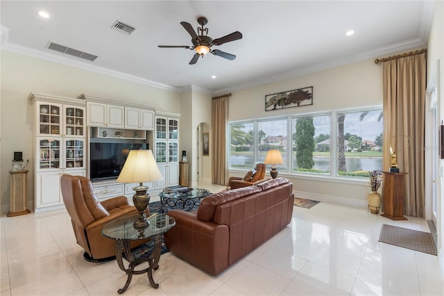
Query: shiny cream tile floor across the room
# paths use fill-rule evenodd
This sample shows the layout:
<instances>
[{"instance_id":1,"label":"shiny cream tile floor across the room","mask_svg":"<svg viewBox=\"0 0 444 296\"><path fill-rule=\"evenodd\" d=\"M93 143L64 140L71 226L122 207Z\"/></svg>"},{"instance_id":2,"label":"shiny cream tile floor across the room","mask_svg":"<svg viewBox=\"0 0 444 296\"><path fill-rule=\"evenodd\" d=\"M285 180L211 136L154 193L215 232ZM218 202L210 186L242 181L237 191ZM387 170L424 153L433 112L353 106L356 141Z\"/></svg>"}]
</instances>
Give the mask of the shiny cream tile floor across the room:
<instances>
[{"instance_id":1,"label":"shiny cream tile floor across the room","mask_svg":"<svg viewBox=\"0 0 444 296\"><path fill-rule=\"evenodd\" d=\"M125 283L115 261L83 260L66 211L0 219L1 295L117 295ZM429 231L423 219L395 222L366 208L295 207L286 229L219 276L167 253L158 289L135 275L124 295L444 295L438 257L378 242L384 223Z\"/></svg>"}]
</instances>

